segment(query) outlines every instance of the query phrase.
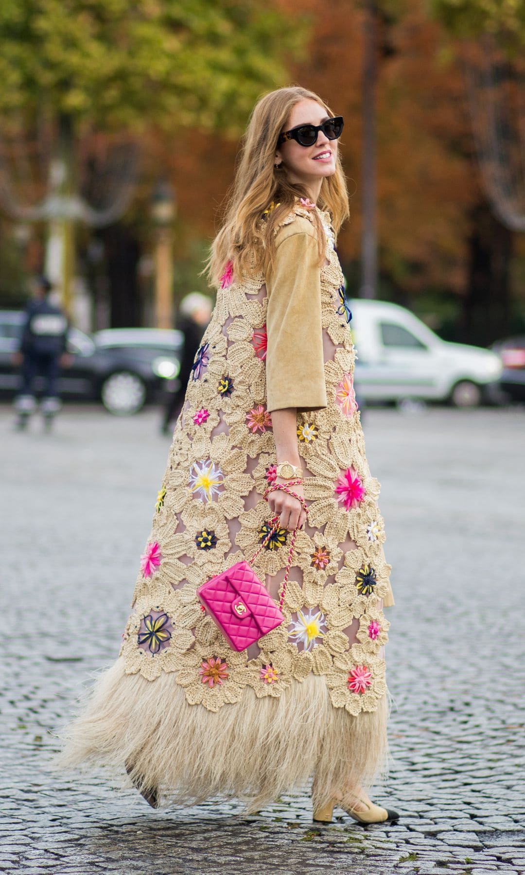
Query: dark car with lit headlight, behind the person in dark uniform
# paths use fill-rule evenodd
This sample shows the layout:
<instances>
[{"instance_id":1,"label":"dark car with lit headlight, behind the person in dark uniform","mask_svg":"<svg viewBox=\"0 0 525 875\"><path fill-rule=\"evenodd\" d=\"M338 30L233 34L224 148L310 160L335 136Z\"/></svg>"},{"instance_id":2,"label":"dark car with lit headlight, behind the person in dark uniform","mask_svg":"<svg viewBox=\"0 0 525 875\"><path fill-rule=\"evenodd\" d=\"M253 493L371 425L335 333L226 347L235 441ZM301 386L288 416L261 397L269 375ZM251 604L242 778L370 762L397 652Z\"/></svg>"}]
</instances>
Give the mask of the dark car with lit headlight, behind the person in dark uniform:
<instances>
[{"instance_id":1,"label":"dark car with lit headlight, behind the person in dark uniform","mask_svg":"<svg viewBox=\"0 0 525 875\"><path fill-rule=\"evenodd\" d=\"M18 349L23 311L0 311L0 395L18 391L18 369L12 353ZM137 413L144 404L162 401L174 391L179 374L182 334L158 328L115 328L89 336L71 328L67 350L73 364L59 379L66 399L102 401L110 413ZM38 390L38 386L37 386Z\"/></svg>"}]
</instances>

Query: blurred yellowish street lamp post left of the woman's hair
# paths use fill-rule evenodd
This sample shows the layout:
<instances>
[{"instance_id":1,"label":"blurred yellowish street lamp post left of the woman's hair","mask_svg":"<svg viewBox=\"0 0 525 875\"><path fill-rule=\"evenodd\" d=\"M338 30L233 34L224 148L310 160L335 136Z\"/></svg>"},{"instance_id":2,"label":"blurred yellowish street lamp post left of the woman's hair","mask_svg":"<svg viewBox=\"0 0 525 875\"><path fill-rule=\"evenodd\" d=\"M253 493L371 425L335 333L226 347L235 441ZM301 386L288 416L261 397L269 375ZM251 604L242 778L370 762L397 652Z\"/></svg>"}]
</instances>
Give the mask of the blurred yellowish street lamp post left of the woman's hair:
<instances>
[{"instance_id":1,"label":"blurred yellowish street lamp post left of the woman's hair","mask_svg":"<svg viewBox=\"0 0 525 875\"><path fill-rule=\"evenodd\" d=\"M155 222L155 322L158 328L173 327L172 222L176 214L175 193L160 179L151 199Z\"/></svg>"}]
</instances>

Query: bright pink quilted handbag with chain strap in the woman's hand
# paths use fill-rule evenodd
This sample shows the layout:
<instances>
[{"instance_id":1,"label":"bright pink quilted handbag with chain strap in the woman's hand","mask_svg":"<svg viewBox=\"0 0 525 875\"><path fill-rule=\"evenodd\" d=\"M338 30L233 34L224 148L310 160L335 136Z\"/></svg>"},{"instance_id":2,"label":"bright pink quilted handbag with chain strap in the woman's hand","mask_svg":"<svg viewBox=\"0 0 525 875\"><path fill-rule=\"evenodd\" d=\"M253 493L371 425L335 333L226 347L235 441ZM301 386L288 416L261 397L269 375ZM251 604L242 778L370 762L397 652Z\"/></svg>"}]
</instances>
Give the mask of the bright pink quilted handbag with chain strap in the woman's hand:
<instances>
[{"instance_id":1,"label":"bright pink quilted handbag with chain strap in the woman's hand","mask_svg":"<svg viewBox=\"0 0 525 875\"><path fill-rule=\"evenodd\" d=\"M276 516L269 522L271 526L269 534L266 535L261 546L255 550L249 562L235 563L217 577L212 577L206 584L202 584L197 590L197 595L203 606L207 608L210 616L234 650L245 650L250 644L259 641L262 635L266 635L272 629L280 626L284 620L281 608L288 583L297 528L291 535L290 553L278 606L251 567L251 563L255 562L262 548L266 546L278 528L276 525L278 519L279 517Z\"/></svg>"}]
</instances>

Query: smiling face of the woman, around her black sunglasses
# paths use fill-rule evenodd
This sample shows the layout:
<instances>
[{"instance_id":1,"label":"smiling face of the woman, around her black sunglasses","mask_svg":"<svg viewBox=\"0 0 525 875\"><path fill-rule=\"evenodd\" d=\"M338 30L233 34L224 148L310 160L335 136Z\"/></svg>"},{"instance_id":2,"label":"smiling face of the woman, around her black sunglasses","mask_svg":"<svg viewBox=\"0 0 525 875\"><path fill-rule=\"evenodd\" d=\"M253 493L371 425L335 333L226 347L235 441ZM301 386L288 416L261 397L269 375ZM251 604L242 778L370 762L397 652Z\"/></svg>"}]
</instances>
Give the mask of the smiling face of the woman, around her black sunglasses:
<instances>
[{"instance_id":1,"label":"smiling face of the woman, around her black sunglasses","mask_svg":"<svg viewBox=\"0 0 525 875\"><path fill-rule=\"evenodd\" d=\"M283 129L291 130L301 124L317 125L329 118L325 107L308 98L296 103ZM276 162L282 161L290 182L303 183L318 197L321 183L335 173L337 140L329 140L322 130L312 146L301 146L296 140L285 140L276 150Z\"/></svg>"}]
</instances>

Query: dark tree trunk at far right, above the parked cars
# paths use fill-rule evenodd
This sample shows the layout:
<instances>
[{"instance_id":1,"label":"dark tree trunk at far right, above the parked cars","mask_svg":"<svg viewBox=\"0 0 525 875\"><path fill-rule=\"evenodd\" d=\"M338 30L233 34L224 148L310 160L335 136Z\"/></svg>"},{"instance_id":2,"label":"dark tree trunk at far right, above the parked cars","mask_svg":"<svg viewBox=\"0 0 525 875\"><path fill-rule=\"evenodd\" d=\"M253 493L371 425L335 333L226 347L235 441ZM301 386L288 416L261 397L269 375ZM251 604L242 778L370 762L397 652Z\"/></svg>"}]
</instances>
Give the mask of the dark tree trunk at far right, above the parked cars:
<instances>
[{"instance_id":1,"label":"dark tree trunk at far right, above the parked cars","mask_svg":"<svg viewBox=\"0 0 525 875\"><path fill-rule=\"evenodd\" d=\"M468 248L468 279L459 339L488 346L510 331L513 232L494 216L486 201L472 209Z\"/></svg>"}]
</instances>

